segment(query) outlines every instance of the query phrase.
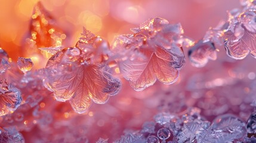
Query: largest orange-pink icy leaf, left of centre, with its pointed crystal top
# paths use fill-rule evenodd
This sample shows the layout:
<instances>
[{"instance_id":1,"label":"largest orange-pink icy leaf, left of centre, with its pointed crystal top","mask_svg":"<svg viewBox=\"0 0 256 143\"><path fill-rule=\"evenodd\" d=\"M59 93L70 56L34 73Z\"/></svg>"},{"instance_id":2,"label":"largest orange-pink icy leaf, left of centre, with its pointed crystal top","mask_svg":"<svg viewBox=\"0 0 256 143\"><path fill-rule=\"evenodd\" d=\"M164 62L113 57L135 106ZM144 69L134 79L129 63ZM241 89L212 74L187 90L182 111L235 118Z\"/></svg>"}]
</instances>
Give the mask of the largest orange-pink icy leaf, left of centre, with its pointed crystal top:
<instances>
[{"instance_id":1,"label":"largest orange-pink icy leaf, left of centre, with its pointed crystal top","mask_svg":"<svg viewBox=\"0 0 256 143\"><path fill-rule=\"evenodd\" d=\"M48 60L45 84L58 101L70 101L77 113L84 113L94 101L104 104L121 88L119 79L104 64L109 44L84 29L73 48L64 48Z\"/></svg>"}]
</instances>

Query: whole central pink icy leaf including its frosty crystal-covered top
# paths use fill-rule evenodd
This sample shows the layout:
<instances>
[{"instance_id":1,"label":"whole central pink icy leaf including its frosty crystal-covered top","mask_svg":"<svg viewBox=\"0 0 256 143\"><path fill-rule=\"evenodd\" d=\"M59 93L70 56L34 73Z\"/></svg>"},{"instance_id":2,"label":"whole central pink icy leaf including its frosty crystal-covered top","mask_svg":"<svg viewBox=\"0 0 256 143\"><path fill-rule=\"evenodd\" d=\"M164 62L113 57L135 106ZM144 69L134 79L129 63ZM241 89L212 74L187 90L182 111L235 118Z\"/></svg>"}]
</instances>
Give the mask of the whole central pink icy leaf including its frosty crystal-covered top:
<instances>
[{"instance_id":1,"label":"whole central pink icy leaf including its frosty crystal-covered top","mask_svg":"<svg viewBox=\"0 0 256 143\"><path fill-rule=\"evenodd\" d=\"M153 85L158 79L174 83L185 64L183 49L177 43L183 29L163 18L145 21L131 29L133 35L121 35L113 43L113 51L125 53L118 61L119 69L135 91Z\"/></svg>"}]
</instances>

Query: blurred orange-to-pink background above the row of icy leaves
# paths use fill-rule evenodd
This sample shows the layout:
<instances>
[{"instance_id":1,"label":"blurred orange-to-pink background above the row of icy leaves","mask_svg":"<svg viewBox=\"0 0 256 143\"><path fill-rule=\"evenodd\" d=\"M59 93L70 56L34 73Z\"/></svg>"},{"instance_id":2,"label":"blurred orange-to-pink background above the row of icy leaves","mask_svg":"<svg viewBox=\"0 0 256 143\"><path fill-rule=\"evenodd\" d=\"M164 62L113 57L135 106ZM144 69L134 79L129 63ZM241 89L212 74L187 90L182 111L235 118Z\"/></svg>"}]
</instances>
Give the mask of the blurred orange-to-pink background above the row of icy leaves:
<instances>
[{"instance_id":1,"label":"blurred orange-to-pink background above the row of icy leaves","mask_svg":"<svg viewBox=\"0 0 256 143\"><path fill-rule=\"evenodd\" d=\"M0 0L0 45L17 59L21 41L29 30L33 7L38 0ZM67 33L69 45L75 45L85 26L110 43L116 35L131 33L132 27L153 17L181 23L185 35L200 39L210 26L226 18L226 11L239 8L238 0L43 0L58 25Z\"/></svg>"}]
</instances>

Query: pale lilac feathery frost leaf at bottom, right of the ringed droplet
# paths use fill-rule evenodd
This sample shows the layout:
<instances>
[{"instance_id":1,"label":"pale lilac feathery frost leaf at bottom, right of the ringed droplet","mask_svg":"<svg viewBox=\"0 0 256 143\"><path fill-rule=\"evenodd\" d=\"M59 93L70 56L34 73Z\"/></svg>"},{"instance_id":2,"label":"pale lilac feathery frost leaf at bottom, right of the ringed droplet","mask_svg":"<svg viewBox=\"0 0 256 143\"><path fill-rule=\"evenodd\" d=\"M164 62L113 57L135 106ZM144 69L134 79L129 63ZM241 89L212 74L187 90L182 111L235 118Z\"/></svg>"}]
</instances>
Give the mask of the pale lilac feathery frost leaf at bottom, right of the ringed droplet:
<instances>
[{"instance_id":1,"label":"pale lilac feathery frost leaf at bottom, right of the ringed droplet","mask_svg":"<svg viewBox=\"0 0 256 143\"><path fill-rule=\"evenodd\" d=\"M178 142L183 143L189 139L189 142L193 142L199 133L204 132L204 130L209 126L208 123L188 123L184 124L182 132L178 134Z\"/></svg>"}]
</instances>

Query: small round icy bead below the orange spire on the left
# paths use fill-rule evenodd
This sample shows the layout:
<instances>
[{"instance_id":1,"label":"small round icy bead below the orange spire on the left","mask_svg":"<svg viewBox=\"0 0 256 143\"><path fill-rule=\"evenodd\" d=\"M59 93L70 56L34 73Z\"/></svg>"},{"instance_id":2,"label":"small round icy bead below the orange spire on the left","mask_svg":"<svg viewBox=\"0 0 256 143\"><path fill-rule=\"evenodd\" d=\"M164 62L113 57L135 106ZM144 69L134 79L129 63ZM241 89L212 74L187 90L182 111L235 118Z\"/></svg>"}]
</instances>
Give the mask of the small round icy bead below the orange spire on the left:
<instances>
[{"instance_id":1,"label":"small round icy bead below the orange spire on the left","mask_svg":"<svg viewBox=\"0 0 256 143\"><path fill-rule=\"evenodd\" d=\"M33 62L30 58L18 57L17 66L18 69L23 71L23 73L26 73L27 71L30 71L32 69Z\"/></svg>"}]
</instances>

